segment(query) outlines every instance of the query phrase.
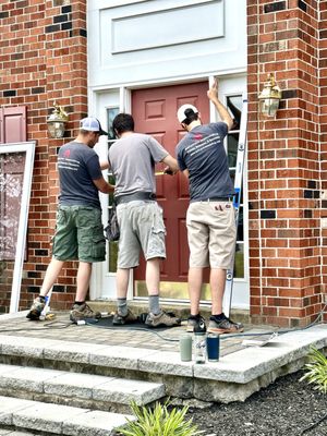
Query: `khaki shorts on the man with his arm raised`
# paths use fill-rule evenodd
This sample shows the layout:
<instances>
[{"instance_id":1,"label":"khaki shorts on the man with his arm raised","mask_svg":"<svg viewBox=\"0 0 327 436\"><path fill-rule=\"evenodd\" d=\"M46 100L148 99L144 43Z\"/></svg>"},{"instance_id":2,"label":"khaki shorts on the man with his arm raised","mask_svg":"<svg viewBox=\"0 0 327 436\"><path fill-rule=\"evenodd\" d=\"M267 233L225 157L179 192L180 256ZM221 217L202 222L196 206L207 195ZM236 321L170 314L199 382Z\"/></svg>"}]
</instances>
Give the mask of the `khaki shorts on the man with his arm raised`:
<instances>
[{"instance_id":1,"label":"khaki shorts on the man with his arm raised","mask_svg":"<svg viewBox=\"0 0 327 436\"><path fill-rule=\"evenodd\" d=\"M186 214L190 267L229 269L235 250L232 202L194 202Z\"/></svg>"}]
</instances>

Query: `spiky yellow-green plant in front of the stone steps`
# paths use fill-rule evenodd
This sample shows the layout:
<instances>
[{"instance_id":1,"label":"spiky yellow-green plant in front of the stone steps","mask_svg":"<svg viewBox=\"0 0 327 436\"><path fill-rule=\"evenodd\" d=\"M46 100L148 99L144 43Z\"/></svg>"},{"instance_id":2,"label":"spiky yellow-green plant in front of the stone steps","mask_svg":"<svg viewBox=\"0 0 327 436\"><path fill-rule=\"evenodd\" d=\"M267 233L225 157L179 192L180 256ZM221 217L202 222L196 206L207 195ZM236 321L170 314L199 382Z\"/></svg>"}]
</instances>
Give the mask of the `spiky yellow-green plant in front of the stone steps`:
<instances>
[{"instance_id":1,"label":"spiky yellow-green plant in front of the stone steps","mask_svg":"<svg viewBox=\"0 0 327 436\"><path fill-rule=\"evenodd\" d=\"M126 425L119 428L124 436L195 436L203 433L197 431L192 419L185 420L187 405L169 410L167 402L157 402L155 409L148 409L133 401L131 408L136 421L129 420Z\"/></svg>"}]
</instances>

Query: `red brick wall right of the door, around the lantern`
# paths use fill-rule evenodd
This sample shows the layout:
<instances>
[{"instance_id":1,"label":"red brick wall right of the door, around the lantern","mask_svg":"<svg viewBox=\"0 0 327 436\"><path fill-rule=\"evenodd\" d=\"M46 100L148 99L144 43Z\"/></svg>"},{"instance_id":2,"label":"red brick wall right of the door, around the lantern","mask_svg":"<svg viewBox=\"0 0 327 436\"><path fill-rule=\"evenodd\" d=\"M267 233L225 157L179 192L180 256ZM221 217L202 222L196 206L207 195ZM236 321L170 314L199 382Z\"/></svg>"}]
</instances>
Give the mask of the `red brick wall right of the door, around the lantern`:
<instances>
[{"instance_id":1,"label":"red brick wall right of the door, around the lantern","mask_svg":"<svg viewBox=\"0 0 327 436\"><path fill-rule=\"evenodd\" d=\"M247 2L251 313L258 323L304 326L322 310L318 7ZM257 96L268 73L282 100L276 118L264 119Z\"/></svg>"}]
</instances>

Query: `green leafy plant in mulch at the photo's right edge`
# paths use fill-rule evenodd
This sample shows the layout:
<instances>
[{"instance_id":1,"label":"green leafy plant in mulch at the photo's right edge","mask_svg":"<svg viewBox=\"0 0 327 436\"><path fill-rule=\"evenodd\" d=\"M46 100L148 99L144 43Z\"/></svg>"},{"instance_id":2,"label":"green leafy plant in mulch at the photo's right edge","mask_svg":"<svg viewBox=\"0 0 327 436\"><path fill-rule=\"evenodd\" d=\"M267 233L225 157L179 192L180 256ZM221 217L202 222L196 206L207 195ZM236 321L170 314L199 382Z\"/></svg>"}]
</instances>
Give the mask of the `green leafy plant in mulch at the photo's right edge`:
<instances>
[{"instance_id":1,"label":"green leafy plant in mulch at the photo's right edge","mask_svg":"<svg viewBox=\"0 0 327 436\"><path fill-rule=\"evenodd\" d=\"M307 380L315 385L315 389L327 393L327 359L315 348L308 353L310 363L304 365L306 372L300 380Z\"/></svg>"}]
</instances>

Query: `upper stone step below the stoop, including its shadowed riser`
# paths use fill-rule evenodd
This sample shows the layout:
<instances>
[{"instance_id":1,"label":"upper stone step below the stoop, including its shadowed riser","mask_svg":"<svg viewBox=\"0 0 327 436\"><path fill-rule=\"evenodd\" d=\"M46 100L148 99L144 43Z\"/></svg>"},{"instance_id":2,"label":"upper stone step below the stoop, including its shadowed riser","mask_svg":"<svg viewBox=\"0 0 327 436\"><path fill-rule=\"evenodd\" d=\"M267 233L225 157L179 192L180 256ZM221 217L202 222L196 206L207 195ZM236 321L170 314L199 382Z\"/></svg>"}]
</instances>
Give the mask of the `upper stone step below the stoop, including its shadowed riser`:
<instances>
[{"instance_id":1,"label":"upper stone step below the stoop, including its shadowed riser","mask_svg":"<svg viewBox=\"0 0 327 436\"><path fill-rule=\"evenodd\" d=\"M0 364L0 395L97 410L130 412L131 401L149 404L165 397L158 383Z\"/></svg>"}]
</instances>

